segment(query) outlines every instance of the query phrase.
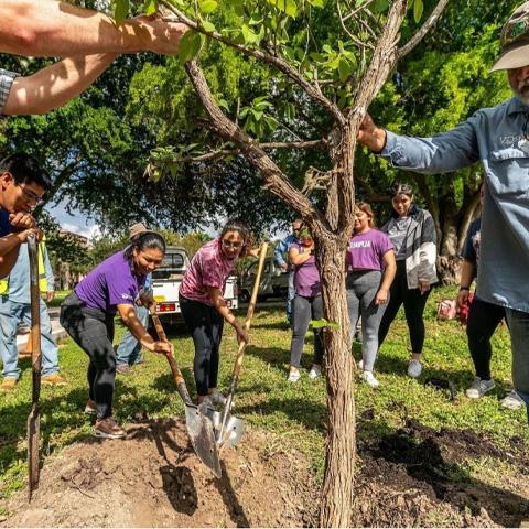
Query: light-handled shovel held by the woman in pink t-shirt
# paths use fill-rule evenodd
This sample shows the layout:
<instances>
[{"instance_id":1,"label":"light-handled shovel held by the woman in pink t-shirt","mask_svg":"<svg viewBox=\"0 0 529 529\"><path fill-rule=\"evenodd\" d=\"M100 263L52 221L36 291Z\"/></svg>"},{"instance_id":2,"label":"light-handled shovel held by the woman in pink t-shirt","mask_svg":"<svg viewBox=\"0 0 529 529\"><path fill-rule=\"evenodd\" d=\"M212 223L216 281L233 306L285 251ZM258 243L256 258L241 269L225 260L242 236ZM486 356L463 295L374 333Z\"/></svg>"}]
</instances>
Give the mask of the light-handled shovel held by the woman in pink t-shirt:
<instances>
[{"instance_id":1,"label":"light-handled shovel held by the woman in pink t-shirt","mask_svg":"<svg viewBox=\"0 0 529 529\"><path fill-rule=\"evenodd\" d=\"M253 289L251 291L250 304L248 305L248 311L246 313L245 330L247 332L250 330L251 319L253 317L253 311L256 309L257 296L259 294L259 287L261 283L262 268L264 266L264 258L267 257L267 249L268 242L263 242L261 245L261 251L259 252L259 264L257 267ZM222 447L225 443L228 443L230 446L235 446L239 443L240 438L242 436L244 421L231 415L230 410L234 402L235 389L237 388L237 384L239 381L240 368L242 366L246 346L246 342L241 342L239 344L224 410L222 413L213 413L212 417L212 421L216 430L216 442L218 447Z\"/></svg>"}]
</instances>

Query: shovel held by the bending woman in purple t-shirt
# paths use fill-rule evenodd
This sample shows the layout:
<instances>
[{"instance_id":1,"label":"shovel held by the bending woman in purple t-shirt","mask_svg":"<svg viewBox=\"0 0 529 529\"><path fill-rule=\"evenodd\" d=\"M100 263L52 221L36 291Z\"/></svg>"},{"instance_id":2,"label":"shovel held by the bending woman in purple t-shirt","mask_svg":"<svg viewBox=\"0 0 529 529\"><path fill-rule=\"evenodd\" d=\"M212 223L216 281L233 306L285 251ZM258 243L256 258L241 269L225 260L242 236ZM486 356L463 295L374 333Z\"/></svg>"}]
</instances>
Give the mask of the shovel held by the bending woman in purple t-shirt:
<instances>
[{"instance_id":1,"label":"shovel held by the bending woman in purple t-shirt","mask_svg":"<svg viewBox=\"0 0 529 529\"><path fill-rule=\"evenodd\" d=\"M149 306L152 323L154 324L160 341L168 342L168 337L163 331L162 322L160 322L160 319L156 314L156 304L152 299L152 293L149 294L144 292L141 296L141 301L145 306ZM215 474L216 477L220 477L223 472L220 469L220 461L218 460L217 445L215 444L213 424L209 419L203 414L202 410L191 400L184 377L176 365L174 356L169 353L165 355L165 358L171 366L176 389L184 401L185 425L187 428L187 434L190 435L191 444L193 445L198 458Z\"/></svg>"}]
</instances>

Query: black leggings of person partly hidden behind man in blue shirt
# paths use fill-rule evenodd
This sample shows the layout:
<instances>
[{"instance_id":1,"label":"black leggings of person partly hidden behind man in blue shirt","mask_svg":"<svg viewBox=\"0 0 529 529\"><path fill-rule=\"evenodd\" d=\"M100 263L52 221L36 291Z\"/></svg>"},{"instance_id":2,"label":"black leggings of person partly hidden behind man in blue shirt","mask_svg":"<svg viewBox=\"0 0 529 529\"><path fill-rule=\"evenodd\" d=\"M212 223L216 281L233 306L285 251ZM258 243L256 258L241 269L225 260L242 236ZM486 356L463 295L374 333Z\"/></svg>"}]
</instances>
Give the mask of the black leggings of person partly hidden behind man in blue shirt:
<instances>
[{"instance_id":1,"label":"black leggings of person partly hidden behind man in blue shirt","mask_svg":"<svg viewBox=\"0 0 529 529\"><path fill-rule=\"evenodd\" d=\"M503 306L487 303L478 298L472 301L466 335L476 377L482 380L490 380L490 358L493 357L490 338L504 317Z\"/></svg>"}]
</instances>

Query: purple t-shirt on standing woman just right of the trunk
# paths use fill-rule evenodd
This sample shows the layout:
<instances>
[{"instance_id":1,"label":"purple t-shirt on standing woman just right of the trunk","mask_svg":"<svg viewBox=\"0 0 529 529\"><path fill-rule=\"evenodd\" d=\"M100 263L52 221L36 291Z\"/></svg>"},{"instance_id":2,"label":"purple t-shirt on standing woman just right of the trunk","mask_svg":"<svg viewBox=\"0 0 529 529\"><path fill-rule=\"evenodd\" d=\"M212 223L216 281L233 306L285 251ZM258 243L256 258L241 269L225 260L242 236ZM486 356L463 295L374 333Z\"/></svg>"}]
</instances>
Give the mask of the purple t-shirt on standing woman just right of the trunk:
<instances>
[{"instance_id":1,"label":"purple t-shirt on standing woman just right of the trunk","mask_svg":"<svg viewBox=\"0 0 529 529\"><path fill-rule=\"evenodd\" d=\"M395 247L389 237L378 229L370 229L349 240L345 264L347 270L382 270L384 255L390 250Z\"/></svg>"}]
</instances>

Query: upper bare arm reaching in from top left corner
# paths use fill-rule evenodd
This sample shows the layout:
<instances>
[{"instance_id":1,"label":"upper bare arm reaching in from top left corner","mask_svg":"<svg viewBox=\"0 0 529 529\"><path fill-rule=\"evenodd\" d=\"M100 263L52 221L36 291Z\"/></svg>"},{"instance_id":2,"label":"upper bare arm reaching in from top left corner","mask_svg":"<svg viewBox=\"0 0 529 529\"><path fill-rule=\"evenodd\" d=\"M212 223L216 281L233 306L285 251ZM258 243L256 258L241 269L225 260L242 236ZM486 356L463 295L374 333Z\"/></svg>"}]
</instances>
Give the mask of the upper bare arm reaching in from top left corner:
<instances>
[{"instance_id":1,"label":"upper bare arm reaching in from top left corner","mask_svg":"<svg viewBox=\"0 0 529 529\"><path fill-rule=\"evenodd\" d=\"M138 17L117 25L97 11L55 0L1 0L0 52L26 56L98 53L176 53L187 31L161 17Z\"/></svg>"}]
</instances>

